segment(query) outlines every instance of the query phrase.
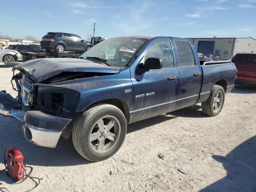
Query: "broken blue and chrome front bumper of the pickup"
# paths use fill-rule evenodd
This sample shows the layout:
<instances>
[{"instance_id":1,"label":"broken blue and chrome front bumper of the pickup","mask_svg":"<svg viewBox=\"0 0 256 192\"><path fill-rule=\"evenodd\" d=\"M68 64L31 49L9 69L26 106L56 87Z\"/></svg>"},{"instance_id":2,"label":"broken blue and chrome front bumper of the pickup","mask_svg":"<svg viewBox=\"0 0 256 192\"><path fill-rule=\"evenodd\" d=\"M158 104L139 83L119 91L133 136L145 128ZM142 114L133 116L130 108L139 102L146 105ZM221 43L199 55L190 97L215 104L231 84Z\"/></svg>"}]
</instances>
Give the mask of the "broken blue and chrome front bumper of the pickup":
<instances>
[{"instance_id":1,"label":"broken blue and chrome front bumper of the pickup","mask_svg":"<svg viewBox=\"0 0 256 192\"><path fill-rule=\"evenodd\" d=\"M62 131L71 119L51 116L36 110L22 111L20 106L20 102L10 94L0 92L0 114L22 121L23 134L29 142L55 148Z\"/></svg>"}]
</instances>

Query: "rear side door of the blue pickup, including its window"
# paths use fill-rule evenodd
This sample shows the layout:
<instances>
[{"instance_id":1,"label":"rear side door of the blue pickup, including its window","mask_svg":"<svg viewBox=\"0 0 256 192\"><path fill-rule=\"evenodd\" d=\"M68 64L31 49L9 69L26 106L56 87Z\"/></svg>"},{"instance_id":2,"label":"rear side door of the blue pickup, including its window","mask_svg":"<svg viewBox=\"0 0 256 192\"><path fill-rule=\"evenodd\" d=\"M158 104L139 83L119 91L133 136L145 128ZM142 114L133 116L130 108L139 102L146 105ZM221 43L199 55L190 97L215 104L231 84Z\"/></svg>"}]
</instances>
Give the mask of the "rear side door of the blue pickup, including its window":
<instances>
[{"instance_id":1,"label":"rear side door of the blue pickup, including its window","mask_svg":"<svg viewBox=\"0 0 256 192\"><path fill-rule=\"evenodd\" d=\"M202 82L201 68L192 42L172 38L178 58L178 94L175 110L196 104ZM194 49L195 50L195 49ZM197 59L197 60L196 60ZM197 63L197 65L196 65Z\"/></svg>"}]
</instances>

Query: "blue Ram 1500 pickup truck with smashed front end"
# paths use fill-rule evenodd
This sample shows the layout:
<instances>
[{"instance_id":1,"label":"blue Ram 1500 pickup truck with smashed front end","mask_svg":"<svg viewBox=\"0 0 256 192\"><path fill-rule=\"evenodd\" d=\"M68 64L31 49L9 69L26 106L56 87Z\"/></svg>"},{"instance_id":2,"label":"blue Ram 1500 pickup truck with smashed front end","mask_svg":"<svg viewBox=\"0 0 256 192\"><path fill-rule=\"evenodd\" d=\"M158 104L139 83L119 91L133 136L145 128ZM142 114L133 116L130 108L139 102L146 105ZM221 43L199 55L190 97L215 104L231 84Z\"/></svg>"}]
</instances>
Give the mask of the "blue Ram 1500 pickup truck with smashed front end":
<instances>
[{"instance_id":1,"label":"blue Ram 1500 pickup truck with smashed front end","mask_svg":"<svg viewBox=\"0 0 256 192\"><path fill-rule=\"evenodd\" d=\"M196 103L216 116L236 79L231 61L200 61L190 40L161 36L110 38L80 59L30 60L13 71L18 96L0 92L0 113L23 121L25 138L40 146L72 135L91 161L115 154L132 122Z\"/></svg>"}]
</instances>

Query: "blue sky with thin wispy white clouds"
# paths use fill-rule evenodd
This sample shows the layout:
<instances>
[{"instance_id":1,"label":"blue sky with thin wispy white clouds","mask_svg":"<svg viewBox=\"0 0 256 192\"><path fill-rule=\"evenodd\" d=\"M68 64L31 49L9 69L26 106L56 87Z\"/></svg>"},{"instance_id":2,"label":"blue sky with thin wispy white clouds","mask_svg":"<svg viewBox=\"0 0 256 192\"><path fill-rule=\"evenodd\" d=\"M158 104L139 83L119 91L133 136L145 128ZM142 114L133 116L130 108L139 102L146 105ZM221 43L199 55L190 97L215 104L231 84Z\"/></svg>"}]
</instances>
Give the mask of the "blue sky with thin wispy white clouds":
<instances>
[{"instance_id":1,"label":"blue sky with thin wispy white clouds","mask_svg":"<svg viewBox=\"0 0 256 192\"><path fill-rule=\"evenodd\" d=\"M0 34L256 38L256 0L0 0Z\"/></svg>"}]
</instances>

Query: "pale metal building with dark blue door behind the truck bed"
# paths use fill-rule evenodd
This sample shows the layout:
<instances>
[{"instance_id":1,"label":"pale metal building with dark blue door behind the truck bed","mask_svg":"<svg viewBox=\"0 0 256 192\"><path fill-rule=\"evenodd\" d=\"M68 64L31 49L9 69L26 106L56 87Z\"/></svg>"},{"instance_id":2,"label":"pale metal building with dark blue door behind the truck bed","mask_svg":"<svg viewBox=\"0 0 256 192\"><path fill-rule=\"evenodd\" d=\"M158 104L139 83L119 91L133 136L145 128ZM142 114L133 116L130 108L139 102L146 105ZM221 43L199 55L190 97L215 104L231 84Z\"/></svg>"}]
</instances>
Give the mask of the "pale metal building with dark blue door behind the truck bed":
<instances>
[{"instance_id":1,"label":"pale metal building with dark blue door behind the truck bed","mask_svg":"<svg viewBox=\"0 0 256 192\"><path fill-rule=\"evenodd\" d=\"M248 38L188 38L198 53L232 58L240 52L256 52L256 39Z\"/></svg>"}]
</instances>

